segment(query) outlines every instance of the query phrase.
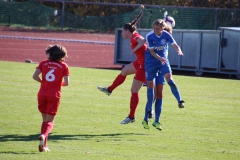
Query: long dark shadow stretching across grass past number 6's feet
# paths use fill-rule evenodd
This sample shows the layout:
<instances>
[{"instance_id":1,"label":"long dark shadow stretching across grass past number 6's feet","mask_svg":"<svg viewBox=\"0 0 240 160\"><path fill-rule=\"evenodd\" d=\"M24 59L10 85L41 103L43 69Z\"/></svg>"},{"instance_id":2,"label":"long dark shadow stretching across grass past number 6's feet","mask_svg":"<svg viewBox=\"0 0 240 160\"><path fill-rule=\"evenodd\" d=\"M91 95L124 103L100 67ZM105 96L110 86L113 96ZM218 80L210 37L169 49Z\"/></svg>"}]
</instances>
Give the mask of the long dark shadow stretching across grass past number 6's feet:
<instances>
[{"instance_id":1,"label":"long dark shadow stretching across grass past number 6's feet","mask_svg":"<svg viewBox=\"0 0 240 160\"><path fill-rule=\"evenodd\" d=\"M49 139L51 141L57 140L106 140L111 139L113 141L118 141L121 138L126 138L126 136L139 136L139 135L147 135L147 134L139 134L139 133L116 133L116 134L79 134L79 135L56 135L50 134ZM39 134L34 135L0 135L0 142L7 142L7 141L34 141L38 140Z\"/></svg>"}]
</instances>

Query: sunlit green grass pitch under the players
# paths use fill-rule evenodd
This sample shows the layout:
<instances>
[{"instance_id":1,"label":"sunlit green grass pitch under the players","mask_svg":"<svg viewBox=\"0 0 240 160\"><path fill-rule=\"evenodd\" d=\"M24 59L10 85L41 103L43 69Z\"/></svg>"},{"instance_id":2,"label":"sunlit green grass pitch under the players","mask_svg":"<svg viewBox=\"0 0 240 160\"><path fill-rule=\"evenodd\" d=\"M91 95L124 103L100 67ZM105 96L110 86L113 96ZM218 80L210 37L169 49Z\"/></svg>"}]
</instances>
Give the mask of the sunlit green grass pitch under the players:
<instances>
[{"instance_id":1,"label":"sunlit green grass pitch under the players","mask_svg":"<svg viewBox=\"0 0 240 160\"><path fill-rule=\"evenodd\" d=\"M240 159L239 80L174 75L186 108L178 109L165 85L160 132L141 125L145 87L136 122L119 124L129 112L133 76L106 96L97 85L111 84L119 71L76 67L70 67L70 85L62 88L51 152L39 153L35 67L0 61L0 159Z\"/></svg>"}]
</instances>

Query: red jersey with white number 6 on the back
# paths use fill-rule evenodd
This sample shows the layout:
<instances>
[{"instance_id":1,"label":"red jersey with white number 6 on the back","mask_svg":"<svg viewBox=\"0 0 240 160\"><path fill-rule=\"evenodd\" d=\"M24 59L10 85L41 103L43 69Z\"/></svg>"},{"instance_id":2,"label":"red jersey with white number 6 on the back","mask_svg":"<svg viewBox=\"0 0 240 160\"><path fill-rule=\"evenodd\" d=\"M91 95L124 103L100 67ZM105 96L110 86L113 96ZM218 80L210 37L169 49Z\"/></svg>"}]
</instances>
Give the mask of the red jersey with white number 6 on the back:
<instances>
[{"instance_id":1,"label":"red jersey with white number 6 on the back","mask_svg":"<svg viewBox=\"0 0 240 160\"><path fill-rule=\"evenodd\" d=\"M42 71L39 94L60 98L63 77L69 76L68 65L64 62L44 60L36 69Z\"/></svg>"}]
</instances>

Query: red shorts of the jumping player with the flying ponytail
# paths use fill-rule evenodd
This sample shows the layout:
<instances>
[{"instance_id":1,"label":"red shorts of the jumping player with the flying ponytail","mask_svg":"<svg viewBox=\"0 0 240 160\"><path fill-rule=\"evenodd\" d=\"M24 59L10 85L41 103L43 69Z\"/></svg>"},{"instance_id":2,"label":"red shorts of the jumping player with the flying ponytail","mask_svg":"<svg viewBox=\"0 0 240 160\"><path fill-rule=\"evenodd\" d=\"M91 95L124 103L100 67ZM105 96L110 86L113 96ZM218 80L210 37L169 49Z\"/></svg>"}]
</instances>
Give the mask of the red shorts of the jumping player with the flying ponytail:
<instances>
[{"instance_id":1,"label":"red shorts of the jumping player with the flying ponytail","mask_svg":"<svg viewBox=\"0 0 240 160\"><path fill-rule=\"evenodd\" d=\"M146 82L146 76L145 76L145 67L142 64L138 64L137 60L133 61L133 66L136 69L136 73L134 76L134 79L141 81L141 82Z\"/></svg>"}]
</instances>

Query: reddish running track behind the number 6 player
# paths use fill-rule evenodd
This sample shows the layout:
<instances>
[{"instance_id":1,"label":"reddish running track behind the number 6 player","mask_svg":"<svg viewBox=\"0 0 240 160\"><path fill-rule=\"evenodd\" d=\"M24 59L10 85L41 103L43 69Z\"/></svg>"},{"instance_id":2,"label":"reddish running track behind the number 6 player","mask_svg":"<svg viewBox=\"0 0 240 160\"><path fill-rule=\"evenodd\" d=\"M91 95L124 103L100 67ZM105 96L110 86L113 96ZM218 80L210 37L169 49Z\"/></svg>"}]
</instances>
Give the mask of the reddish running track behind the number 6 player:
<instances>
[{"instance_id":1,"label":"reddish running track behind the number 6 player","mask_svg":"<svg viewBox=\"0 0 240 160\"><path fill-rule=\"evenodd\" d=\"M0 27L0 35L112 43L115 39L113 34L12 30L2 27ZM45 49L50 44L61 44L66 47L68 51L66 63L69 66L109 69L120 69L122 67L113 64L114 45L12 38L0 38L0 61L24 62L25 59L30 59L34 62L40 62L47 58Z\"/></svg>"}]
</instances>

